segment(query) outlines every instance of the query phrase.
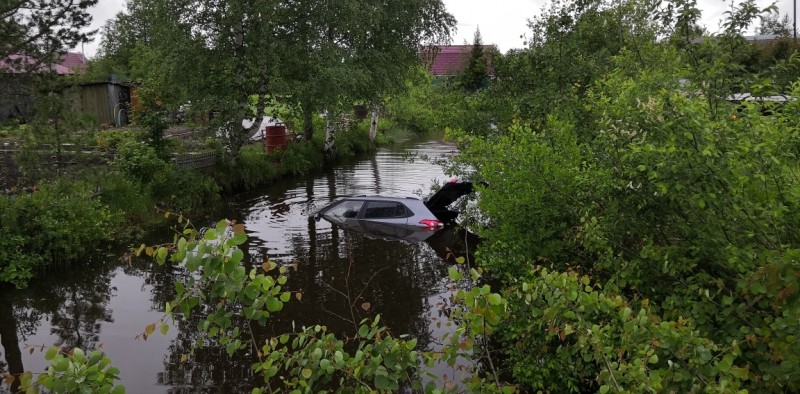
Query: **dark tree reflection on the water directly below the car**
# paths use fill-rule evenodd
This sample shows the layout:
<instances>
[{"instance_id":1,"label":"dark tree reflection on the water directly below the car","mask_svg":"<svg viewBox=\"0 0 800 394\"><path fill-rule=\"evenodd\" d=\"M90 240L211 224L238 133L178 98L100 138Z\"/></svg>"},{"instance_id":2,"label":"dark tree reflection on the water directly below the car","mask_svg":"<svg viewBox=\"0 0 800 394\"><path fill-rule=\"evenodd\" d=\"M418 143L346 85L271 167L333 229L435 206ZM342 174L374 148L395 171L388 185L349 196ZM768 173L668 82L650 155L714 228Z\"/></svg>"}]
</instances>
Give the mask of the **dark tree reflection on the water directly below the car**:
<instances>
[{"instance_id":1,"label":"dark tree reflection on the water directly below the car","mask_svg":"<svg viewBox=\"0 0 800 394\"><path fill-rule=\"evenodd\" d=\"M413 335L421 347L427 346L431 307L427 299L440 291L447 272L447 265L427 244L371 239L335 227L329 233L309 235L310 239L291 239L298 269L290 270L287 285L301 291L303 299L291 302L271 321L274 333L296 321L325 324L337 335L353 335L352 320L358 323L381 314L382 323L393 333ZM365 302L368 311L361 307Z\"/></svg>"}]
</instances>

